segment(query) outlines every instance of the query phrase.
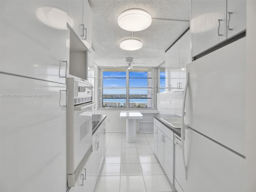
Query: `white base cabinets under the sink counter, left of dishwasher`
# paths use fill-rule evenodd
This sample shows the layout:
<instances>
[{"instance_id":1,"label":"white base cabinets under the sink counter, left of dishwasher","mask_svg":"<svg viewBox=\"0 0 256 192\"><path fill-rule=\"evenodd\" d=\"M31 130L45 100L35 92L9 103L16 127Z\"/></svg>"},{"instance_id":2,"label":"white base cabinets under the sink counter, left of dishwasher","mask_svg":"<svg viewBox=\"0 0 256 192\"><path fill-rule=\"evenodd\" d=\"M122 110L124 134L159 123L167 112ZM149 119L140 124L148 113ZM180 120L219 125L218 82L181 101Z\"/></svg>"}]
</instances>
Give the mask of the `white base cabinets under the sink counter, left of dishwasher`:
<instances>
[{"instance_id":1,"label":"white base cabinets under the sink counter, left of dishwasher","mask_svg":"<svg viewBox=\"0 0 256 192\"><path fill-rule=\"evenodd\" d=\"M157 148L157 158L161 166L164 168L166 175L173 184L173 162L174 162L174 144L173 132L164 126L161 122L154 118L154 138L157 135L157 142L154 142L154 148ZM155 146L157 144L157 146Z\"/></svg>"}]
</instances>

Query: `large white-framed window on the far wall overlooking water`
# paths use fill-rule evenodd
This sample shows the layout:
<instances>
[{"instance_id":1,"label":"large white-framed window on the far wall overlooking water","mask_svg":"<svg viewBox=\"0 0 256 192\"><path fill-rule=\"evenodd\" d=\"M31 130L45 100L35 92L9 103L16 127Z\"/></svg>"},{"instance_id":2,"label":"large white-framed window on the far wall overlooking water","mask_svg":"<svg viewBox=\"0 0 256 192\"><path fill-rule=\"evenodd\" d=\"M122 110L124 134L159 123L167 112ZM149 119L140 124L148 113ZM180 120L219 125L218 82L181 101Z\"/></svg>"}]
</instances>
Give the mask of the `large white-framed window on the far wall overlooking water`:
<instances>
[{"instance_id":1,"label":"large white-framed window on the far wall overlooking water","mask_svg":"<svg viewBox=\"0 0 256 192\"><path fill-rule=\"evenodd\" d=\"M156 108L155 73L156 68L99 68L99 107Z\"/></svg>"}]
</instances>

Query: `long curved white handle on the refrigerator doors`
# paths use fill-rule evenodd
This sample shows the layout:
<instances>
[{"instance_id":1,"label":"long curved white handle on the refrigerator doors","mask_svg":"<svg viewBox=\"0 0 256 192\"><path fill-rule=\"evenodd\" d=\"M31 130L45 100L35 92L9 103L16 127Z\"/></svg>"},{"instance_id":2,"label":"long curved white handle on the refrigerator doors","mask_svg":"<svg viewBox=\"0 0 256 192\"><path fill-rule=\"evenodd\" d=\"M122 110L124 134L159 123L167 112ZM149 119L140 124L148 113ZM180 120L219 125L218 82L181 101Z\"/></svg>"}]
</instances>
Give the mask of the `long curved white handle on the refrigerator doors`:
<instances>
[{"instance_id":1,"label":"long curved white handle on the refrigerator doors","mask_svg":"<svg viewBox=\"0 0 256 192\"><path fill-rule=\"evenodd\" d=\"M182 103L182 124L181 124L182 158L183 158L183 163L184 163L184 167L185 167L186 180L187 180L187 166L186 166L186 160L185 160L184 136L185 136L185 129L187 128L187 126L184 124L184 117L185 117L186 96L187 96L187 92L188 92L188 82L189 82L189 72L187 73L187 80L186 80L184 98L183 98L183 103Z\"/></svg>"}]
</instances>

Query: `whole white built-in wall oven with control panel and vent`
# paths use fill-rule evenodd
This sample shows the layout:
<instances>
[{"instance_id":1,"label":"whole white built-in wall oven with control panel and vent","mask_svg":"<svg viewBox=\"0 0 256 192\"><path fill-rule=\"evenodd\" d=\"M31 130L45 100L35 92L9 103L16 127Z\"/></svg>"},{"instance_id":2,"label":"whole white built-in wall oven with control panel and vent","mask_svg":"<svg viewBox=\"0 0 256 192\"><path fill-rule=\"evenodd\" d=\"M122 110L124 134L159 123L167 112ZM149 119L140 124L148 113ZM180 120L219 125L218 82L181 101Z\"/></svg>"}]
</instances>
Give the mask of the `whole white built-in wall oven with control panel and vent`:
<instances>
[{"instance_id":1,"label":"whole white built-in wall oven with control panel and vent","mask_svg":"<svg viewBox=\"0 0 256 192\"><path fill-rule=\"evenodd\" d=\"M67 182L75 186L92 153L92 84L67 78Z\"/></svg>"}]
</instances>

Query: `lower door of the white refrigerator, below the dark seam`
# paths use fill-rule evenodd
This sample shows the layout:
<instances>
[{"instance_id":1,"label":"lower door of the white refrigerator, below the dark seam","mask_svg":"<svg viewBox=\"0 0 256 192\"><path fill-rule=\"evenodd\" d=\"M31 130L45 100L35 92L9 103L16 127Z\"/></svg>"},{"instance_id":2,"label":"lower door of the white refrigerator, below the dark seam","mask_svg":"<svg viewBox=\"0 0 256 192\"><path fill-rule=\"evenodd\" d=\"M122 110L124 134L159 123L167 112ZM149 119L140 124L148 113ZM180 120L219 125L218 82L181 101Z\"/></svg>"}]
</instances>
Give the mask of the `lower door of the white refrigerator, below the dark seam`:
<instances>
[{"instance_id":1,"label":"lower door of the white refrigerator, below the dark seam","mask_svg":"<svg viewBox=\"0 0 256 192\"><path fill-rule=\"evenodd\" d=\"M192 130L186 131L185 192L246 191L245 159Z\"/></svg>"}]
</instances>

